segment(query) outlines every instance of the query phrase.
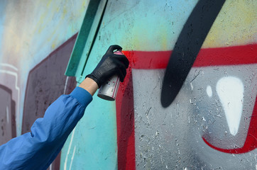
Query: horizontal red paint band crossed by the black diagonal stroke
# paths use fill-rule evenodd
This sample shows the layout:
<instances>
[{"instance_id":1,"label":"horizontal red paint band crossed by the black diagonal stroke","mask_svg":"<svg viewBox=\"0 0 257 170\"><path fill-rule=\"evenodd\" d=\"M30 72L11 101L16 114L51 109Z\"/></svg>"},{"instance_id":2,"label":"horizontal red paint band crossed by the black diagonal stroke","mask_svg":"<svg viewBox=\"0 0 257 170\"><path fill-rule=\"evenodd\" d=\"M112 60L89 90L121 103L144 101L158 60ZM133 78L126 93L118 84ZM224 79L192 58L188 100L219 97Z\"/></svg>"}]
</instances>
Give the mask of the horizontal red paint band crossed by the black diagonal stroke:
<instances>
[{"instance_id":1,"label":"horizontal red paint band crossed by the black diagonal stroke","mask_svg":"<svg viewBox=\"0 0 257 170\"><path fill-rule=\"evenodd\" d=\"M171 54L172 51L124 51L133 69L165 69ZM257 63L257 44L201 49L193 67L254 63Z\"/></svg>"}]
</instances>

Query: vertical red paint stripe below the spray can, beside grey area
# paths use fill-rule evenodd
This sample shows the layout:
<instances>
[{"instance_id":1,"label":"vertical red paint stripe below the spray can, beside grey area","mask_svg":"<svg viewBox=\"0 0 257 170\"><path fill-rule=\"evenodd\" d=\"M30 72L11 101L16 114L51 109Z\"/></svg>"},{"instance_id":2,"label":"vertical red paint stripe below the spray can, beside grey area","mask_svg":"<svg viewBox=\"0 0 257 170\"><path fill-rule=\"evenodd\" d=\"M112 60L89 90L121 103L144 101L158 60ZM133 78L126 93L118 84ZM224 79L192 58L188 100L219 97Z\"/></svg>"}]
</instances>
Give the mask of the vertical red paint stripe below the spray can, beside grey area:
<instances>
[{"instance_id":1,"label":"vertical red paint stripe below the spray can, beside grey area","mask_svg":"<svg viewBox=\"0 0 257 170\"><path fill-rule=\"evenodd\" d=\"M116 96L118 169L136 169L135 121L131 67Z\"/></svg>"}]
</instances>

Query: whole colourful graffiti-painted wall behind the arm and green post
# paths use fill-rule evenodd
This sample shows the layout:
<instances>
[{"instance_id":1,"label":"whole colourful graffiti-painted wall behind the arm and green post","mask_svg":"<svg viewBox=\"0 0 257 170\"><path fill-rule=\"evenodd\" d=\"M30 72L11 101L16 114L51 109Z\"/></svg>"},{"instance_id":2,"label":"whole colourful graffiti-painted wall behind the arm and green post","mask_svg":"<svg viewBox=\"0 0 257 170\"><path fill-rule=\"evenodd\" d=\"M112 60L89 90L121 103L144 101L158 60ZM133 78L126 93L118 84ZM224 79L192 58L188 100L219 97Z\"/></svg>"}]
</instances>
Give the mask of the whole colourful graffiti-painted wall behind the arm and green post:
<instances>
[{"instance_id":1,"label":"whole colourful graffiti-painted wall behind the arm and green post","mask_svg":"<svg viewBox=\"0 0 257 170\"><path fill-rule=\"evenodd\" d=\"M1 1L1 143L75 87L64 72L87 5ZM256 8L106 1L82 76L119 44L131 62L126 80L116 102L94 96L50 168L256 169Z\"/></svg>"}]
</instances>

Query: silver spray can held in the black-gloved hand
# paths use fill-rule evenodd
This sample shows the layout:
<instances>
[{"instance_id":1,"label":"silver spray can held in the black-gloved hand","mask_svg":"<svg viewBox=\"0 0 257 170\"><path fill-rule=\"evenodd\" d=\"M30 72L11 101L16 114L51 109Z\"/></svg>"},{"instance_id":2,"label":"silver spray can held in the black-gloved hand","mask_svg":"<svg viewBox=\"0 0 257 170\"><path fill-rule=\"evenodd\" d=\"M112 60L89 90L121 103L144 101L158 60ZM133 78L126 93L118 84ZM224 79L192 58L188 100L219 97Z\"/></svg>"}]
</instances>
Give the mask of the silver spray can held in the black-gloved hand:
<instances>
[{"instance_id":1,"label":"silver spray can held in the black-gloved hand","mask_svg":"<svg viewBox=\"0 0 257 170\"><path fill-rule=\"evenodd\" d=\"M114 52L114 54L123 55L123 53L119 50ZM100 87L97 96L107 101L115 101L119 89L119 83L120 80L118 75L114 75Z\"/></svg>"}]
</instances>

